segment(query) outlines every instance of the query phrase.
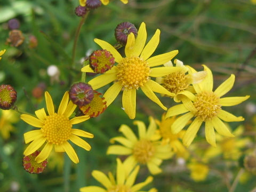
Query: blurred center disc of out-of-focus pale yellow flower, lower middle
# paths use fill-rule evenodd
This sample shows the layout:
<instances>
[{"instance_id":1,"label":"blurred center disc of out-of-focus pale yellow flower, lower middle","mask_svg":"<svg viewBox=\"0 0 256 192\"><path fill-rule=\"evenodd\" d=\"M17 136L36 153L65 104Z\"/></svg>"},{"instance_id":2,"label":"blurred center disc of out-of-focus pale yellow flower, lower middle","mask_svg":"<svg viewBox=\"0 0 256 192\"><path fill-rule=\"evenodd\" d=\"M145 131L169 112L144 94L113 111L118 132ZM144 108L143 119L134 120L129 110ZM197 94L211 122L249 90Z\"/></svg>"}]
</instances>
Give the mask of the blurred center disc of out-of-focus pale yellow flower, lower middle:
<instances>
[{"instance_id":1,"label":"blurred center disc of out-of-focus pale yellow flower, lower middle","mask_svg":"<svg viewBox=\"0 0 256 192\"><path fill-rule=\"evenodd\" d=\"M135 143L133 155L139 163L146 164L154 154L155 148L152 142L148 140L140 140Z\"/></svg>"}]
</instances>

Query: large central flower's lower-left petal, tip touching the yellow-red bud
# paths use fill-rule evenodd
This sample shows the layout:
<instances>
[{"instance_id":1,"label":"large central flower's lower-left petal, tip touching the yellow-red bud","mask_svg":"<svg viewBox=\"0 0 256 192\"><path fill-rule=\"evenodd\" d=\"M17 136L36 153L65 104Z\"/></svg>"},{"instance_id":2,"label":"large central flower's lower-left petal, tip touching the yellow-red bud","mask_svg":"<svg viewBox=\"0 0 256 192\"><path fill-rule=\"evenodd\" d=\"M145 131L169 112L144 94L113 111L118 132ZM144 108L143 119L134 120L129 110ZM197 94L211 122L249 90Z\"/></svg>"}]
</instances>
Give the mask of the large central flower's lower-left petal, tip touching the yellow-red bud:
<instances>
[{"instance_id":1,"label":"large central flower's lower-left petal, tip touching the yellow-red bud","mask_svg":"<svg viewBox=\"0 0 256 192\"><path fill-rule=\"evenodd\" d=\"M116 99L119 92L122 90L122 83L117 82L111 85L108 90L104 93L103 98L107 102L107 107Z\"/></svg>"}]
</instances>

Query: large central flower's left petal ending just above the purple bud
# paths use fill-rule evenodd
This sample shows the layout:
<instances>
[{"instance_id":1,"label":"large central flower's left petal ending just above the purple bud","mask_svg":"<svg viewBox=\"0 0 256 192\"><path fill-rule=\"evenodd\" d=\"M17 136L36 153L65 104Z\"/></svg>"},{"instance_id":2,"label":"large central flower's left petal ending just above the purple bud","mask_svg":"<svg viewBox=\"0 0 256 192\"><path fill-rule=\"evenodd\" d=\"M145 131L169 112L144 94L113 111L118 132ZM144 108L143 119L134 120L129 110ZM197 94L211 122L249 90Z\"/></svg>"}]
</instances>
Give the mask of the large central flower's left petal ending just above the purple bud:
<instances>
[{"instance_id":1,"label":"large central flower's left petal ending just above the purple bud","mask_svg":"<svg viewBox=\"0 0 256 192\"><path fill-rule=\"evenodd\" d=\"M105 86L116 80L116 74L103 74L98 77L94 77L88 83L92 86L93 90L97 90L102 86Z\"/></svg>"}]
</instances>

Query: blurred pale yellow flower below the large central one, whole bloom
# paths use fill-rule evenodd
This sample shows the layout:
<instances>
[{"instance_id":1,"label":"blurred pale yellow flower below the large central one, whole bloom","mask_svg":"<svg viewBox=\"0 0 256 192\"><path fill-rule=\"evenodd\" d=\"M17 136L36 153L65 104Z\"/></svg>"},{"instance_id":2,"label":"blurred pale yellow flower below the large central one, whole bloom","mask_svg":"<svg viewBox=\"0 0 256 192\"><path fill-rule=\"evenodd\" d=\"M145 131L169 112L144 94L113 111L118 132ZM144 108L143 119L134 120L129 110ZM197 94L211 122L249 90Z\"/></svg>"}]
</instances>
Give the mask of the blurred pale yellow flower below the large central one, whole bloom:
<instances>
[{"instance_id":1,"label":"blurred pale yellow flower below the large central one, whole bloom","mask_svg":"<svg viewBox=\"0 0 256 192\"><path fill-rule=\"evenodd\" d=\"M117 141L123 146L111 145L108 147L107 154L130 155L124 161L125 167L134 167L138 163L146 164L150 173L158 174L162 172L159 165L163 159L168 159L173 154L169 145L161 145L161 142L154 138L156 123L153 117L149 117L149 121L148 130L143 122L133 122L138 126L139 138L135 136L129 126L121 125L119 131L125 137L115 137L110 142Z\"/></svg>"}]
</instances>

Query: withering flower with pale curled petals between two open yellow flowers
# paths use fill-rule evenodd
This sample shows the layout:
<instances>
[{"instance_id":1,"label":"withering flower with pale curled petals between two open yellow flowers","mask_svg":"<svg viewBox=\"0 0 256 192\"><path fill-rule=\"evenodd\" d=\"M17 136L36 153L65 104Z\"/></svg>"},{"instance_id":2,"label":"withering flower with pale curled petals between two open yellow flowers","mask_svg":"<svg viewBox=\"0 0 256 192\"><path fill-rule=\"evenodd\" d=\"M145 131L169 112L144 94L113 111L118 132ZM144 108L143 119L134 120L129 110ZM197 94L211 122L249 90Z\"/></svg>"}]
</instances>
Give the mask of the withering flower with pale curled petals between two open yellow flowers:
<instances>
[{"instance_id":1,"label":"withering flower with pale curled petals between two open yellow flowers","mask_svg":"<svg viewBox=\"0 0 256 192\"><path fill-rule=\"evenodd\" d=\"M188 67L183 65L183 62L175 59L174 63L176 67L180 67L180 70L175 71L164 77L157 77L156 82L162 84L165 89L171 93L178 94L183 90L188 90L190 92L195 92L191 84L201 82L204 77L207 75L205 71L199 71L194 74L186 74L189 70ZM166 62L165 67L172 67L172 62ZM174 98L175 99L175 98Z\"/></svg>"}]
</instances>

